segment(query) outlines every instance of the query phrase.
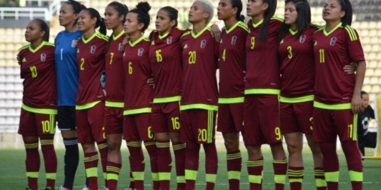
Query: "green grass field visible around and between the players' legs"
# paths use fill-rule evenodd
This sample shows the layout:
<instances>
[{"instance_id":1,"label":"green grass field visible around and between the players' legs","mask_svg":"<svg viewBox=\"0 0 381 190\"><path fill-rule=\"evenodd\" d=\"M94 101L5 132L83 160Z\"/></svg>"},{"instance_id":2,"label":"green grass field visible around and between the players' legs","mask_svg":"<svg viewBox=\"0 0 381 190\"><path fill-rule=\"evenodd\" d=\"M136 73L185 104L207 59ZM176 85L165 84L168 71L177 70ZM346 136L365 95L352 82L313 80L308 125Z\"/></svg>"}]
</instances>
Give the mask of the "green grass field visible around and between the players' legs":
<instances>
[{"instance_id":1,"label":"green grass field visible around and between the players' legs","mask_svg":"<svg viewBox=\"0 0 381 190\"><path fill-rule=\"evenodd\" d=\"M226 161L225 161L225 151L223 147L219 147L220 151L218 153L219 160L219 168L217 174L217 181L215 185L215 189L228 189L228 177L226 172ZM244 148L241 148L244 149ZM307 148L305 148L307 149ZM203 150L201 150L203 151ZM58 171L57 171L57 181L56 186L59 187L63 183L63 154L65 151L63 149L57 150L58 157ZM368 155L371 154L370 151L367 152ZM126 149L122 150L123 155L123 166L121 170L121 175L119 177L119 188L124 190L125 187L129 184L129 166L128 166L128 151ZM204 160L205 157L200 154L200 170L197 180L197 189L205 188L205 177L204 177ZM246 153L243 154L243 163L242 163L242 174L241 174L241 189L248 189L248 181L247 181L247 171L245 160L247 160ZM345 157L341 152L339 152L340 158L340 189L352 189L351 183L349 181L347 168L345 164ZM313 179L313 162L311 158L310 152L307 150L304 151L304 160L305 160L305 175L303 180L303 189L315 189L314 187L314 179ZM83 159L83 155L81 154L81 160ZM41 158L42 155L41 155ZM274 189L273 185L273 171L272 171L272 157L270 150L264 150L264 158L265 158L265 166L264 166L264 184L263 189ZM25 177L25 151L23 149L0 149L0 189L24 189L26 186L26 177ZM365 160L363 162L364 165L364 188L366 190L372 189L381 189L381 161L371 161ZM99 164L100 166L100 164ZM146 170L149 168L148 156L146 155ZM44 165L41 162L40 169L40 178L39 178L39 186L40 189L43 189L45 184L45 175L44 175ZM101 169L99 169L101 171ZM85 172L83 163L80 162L78 166L76 180L75 180L75 188L80 189L85 182ZM99 172L100 176L100 187L103 186L103 175ZM146 189L150 189L151 187L151 176L147 171L145 175L145 185ZM172 181L171 181L172 189L175 188L175 171L174 167L172 170ZM288 183L285 189L290 189Z\"/></svg>"}]
</instances>

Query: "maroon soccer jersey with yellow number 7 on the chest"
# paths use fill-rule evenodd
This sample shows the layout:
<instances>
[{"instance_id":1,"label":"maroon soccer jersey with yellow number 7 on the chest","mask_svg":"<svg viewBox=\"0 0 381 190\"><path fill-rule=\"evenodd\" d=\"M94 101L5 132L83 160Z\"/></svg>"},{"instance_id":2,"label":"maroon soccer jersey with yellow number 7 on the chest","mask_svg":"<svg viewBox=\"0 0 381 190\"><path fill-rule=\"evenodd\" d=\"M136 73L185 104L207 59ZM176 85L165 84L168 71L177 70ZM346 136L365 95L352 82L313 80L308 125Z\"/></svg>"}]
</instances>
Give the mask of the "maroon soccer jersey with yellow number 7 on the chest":
<instances>
[{"instance_id":1,"label":"maroon soccer jersey with yellow number 7 on the chest","mask_svg":"<svg viewBox=\"0 0 381 190\"><path fill-rule=\"evenodd\" d=\"M106 67L106 106L109 102L124 102L123 78L123 39L124 30L117 36L111 36L109 48L105 55Z\"/></svg>"}]
</instances>

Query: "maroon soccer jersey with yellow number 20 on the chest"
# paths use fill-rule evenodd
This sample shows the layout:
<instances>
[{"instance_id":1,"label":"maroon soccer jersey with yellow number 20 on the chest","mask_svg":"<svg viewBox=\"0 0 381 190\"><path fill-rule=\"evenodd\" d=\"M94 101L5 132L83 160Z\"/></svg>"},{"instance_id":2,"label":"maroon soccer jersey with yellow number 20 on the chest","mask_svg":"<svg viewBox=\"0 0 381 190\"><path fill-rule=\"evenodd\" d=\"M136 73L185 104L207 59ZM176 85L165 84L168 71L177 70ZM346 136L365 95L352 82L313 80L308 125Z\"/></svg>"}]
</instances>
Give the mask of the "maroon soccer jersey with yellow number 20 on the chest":
<instances>
[{"instance_id":1,"label":"maroon soccer jersey with yellow number 20 on the chest","mask_svg":"<svg viewBox=\"0 0 381 190\"><path fill-rule=\"evenodd\" d=\"M217 110L218 43L205 27L198 34L193 31L181 37L183 82L180 110Z\"/></svg>"}]
</instances>

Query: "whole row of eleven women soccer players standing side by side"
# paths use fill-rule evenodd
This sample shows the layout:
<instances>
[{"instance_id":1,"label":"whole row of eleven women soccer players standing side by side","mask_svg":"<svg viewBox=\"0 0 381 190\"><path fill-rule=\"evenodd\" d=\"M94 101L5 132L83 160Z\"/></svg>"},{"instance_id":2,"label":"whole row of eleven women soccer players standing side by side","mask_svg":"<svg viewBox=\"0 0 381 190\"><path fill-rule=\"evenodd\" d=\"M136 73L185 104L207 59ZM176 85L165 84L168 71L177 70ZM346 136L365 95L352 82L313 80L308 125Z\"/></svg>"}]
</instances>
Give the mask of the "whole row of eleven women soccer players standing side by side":
<instances>
[{"instance_id":1,"label":"whole row of eleven women soccer players standing side by side","mask_svg":"<svg viewBox=\"0 0 381 190\"><path fill-rule=\"evenodd\" d=\"M185 30L176 28L177 10L163 7L156 15L156 30L145 37L148 3L129 10L112 2L103 19L97 10L71 0L61 6L59 23L65 30L54 44L48 43L46 22L30 21L25 32L30 44L18 54L24 79L18 133L26 149L26 189L38 188L39 140L46 189L55 188L56 120L66 147L64 190L73 189L77 143L84 151L86 187L99 189L94 142L105 189L117 189L122 139L130 152L131 189L144 189L142 141L153 189L170 188L171 142L176 189L196 188L201 144L206 189L214 189L216 123L227 149L230 189L240 184L240 133L248 153L250 189L262 189L262 144L271 147L275 189L284 189L287 174L291 189L302 188L303 134L312 150L316 189L338 189L337 136L352 187L362 189L356 120L366 63L351 27L351 3L327 0L324 27L311 24L306 0L285 1L284 19L274 17L276 1L249 0L246 7L247 24L241 1L220 0L221 31L208 26L214 12L209 1L192 4L192 29ZM105 35L106 29L112 30L111 36Z\"/></svg>"}]
</instances>

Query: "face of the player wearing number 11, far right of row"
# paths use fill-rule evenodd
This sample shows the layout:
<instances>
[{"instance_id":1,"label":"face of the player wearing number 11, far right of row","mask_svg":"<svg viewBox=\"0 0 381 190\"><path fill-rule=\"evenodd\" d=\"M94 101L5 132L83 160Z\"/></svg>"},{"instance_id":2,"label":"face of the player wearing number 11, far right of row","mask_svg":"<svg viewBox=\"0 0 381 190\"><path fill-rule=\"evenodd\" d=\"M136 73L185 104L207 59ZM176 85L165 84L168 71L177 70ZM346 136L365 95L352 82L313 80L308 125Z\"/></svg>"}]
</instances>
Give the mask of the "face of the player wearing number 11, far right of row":
<instances>
[{"instance_id":1,"label":"face of the player wearing number 11, far right of row","mask_svg":"<svg viewBox=\"0 0 381 190\"><path fill-rule=\"evenodd\" d=\"M323 9L323 19L327 21L337 21L345 15L345 11L341 11L340 2L338 0L327 0Z\"/></svg>"}]
</instances>

